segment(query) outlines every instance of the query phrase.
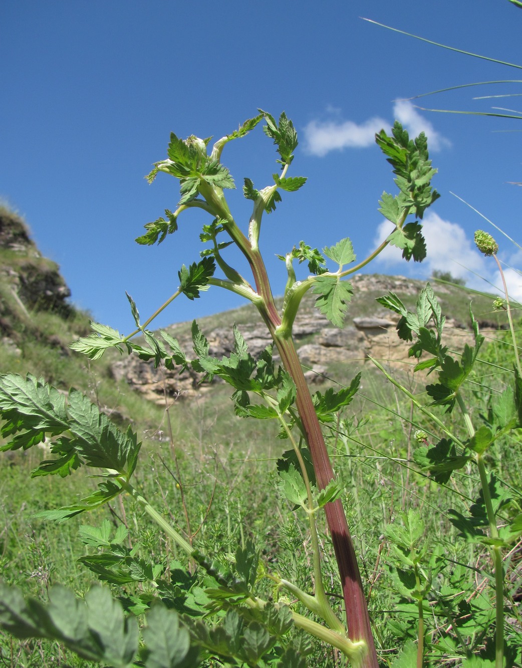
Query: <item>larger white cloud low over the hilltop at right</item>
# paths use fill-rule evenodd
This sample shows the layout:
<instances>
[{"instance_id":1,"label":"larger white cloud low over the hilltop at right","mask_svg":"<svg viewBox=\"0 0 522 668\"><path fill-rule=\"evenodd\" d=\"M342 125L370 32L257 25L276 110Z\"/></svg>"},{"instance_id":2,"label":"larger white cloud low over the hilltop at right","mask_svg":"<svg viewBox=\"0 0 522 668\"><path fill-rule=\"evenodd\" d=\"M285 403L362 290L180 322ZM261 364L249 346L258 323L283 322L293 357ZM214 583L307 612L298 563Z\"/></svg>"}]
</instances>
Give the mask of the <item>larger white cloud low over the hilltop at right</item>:
<instances>
[{"instance_id":1,"label":"larger white cloud low over the hilltop at right","mask_svg":"<svg viewBox=\"0 0 522 668\"><path fill-rule=\"evenodd\" d=\"M386 246L376 259L384 271L422 279L427 279L435 270L449 271L453 277L465 279L466 285L473 289L502 292L497 265L477 251L473 239L467 238L461 225L444 220L433 212L427 212L422 224L426 259L420 265L413 261L406 263L399 248ZM392 231L393 224L383 220L377 228L374 245L384 241ZM508 264L516 267L515 257L511 257ZM509 295L522 303L522 276L510 268L504 269L504 275Z\"/></svg>"}]
</instances>

